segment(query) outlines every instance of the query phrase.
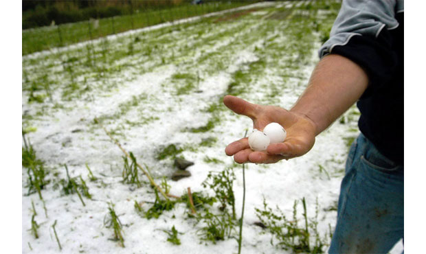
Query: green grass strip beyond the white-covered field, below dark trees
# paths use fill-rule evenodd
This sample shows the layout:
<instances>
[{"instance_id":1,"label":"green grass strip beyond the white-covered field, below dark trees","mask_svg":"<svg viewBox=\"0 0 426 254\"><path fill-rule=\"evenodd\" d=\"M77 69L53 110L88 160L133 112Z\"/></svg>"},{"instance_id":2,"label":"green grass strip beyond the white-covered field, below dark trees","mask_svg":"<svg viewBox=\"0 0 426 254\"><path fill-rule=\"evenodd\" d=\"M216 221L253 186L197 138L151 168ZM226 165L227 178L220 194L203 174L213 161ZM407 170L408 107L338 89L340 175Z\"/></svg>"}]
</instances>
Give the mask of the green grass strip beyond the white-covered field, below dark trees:
<instances>
[{"instance_id":1,"label":"green grass strip beyond the white-covered field, below dark trees","mask_svg":"<svg viewBox=\"0 0 426 254\"><path fill-rule=\"evenodd\" d=\"M94 21L82 21L51 27L39 27L22 31L22 54L63 47L110 34L176 21L190 16L236 8L247 3L218 3L203 5L179 5L165 10L147 10L133 15L115 16L99 19L98 27Z\"/></svg>"}]
</instances>

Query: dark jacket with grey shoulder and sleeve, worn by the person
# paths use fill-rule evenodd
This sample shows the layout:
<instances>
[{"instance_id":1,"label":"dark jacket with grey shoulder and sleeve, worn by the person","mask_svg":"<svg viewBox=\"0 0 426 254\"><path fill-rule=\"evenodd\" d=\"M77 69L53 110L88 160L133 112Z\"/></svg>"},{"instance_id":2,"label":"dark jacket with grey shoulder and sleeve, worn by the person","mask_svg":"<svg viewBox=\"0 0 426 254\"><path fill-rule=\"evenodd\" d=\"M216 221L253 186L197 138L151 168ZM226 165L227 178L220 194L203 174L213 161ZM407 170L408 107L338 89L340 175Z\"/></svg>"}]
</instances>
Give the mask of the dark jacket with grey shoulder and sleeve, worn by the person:
<instances>
[{"instance_id":1,"label":"dark jacket with grey shoulder and sleeve, worn by the person","mask_svg":"<svg viewBox=\"0 0 426 254\"><path fill-rule=\"evenodd\" d=\"M320 58L339 54L368 74L357 106L359 129L395 163L404 153L404 1L344 0L320 48Z\"/></svg>"}]
</instances>

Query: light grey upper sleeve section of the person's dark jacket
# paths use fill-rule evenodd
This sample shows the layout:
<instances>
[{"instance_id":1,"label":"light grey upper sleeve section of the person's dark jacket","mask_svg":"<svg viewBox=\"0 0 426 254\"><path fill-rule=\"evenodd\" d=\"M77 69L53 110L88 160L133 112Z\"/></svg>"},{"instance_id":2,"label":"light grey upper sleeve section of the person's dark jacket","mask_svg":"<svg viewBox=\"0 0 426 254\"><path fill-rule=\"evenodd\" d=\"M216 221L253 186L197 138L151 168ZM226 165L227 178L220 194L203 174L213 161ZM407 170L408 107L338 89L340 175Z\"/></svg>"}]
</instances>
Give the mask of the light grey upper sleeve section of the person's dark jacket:
<instances>
[{"instance_id":1,"label":"light grey upper sleeve section of the person's dark jacket","mask_svg":"<svg viewBox=\"0 0 426 254\"><path fill-rule=\"evenodd\" d=\"M403 10L403 1L396 0L344 0L330 38L318 51L320 58L330 54L336 45L346 45L352 36L377 38L384 27L388 30L398 27L395 8L401 6Z\"/></svg>"}]
</instances>

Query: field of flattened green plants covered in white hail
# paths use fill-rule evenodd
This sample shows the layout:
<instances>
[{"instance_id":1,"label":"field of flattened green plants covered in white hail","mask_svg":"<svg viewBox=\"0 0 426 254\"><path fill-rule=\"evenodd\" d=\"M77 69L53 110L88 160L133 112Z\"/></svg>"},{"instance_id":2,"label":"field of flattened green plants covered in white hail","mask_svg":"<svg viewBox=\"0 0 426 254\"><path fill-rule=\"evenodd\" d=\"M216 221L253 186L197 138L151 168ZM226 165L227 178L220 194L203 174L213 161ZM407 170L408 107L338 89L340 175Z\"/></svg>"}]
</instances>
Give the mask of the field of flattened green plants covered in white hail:
<instances>
[{"instance_id":1,"label":"field of flattened green plants covered in white hail","mask_svg":"<svg viewBox=\"0 0 426 254\"><path fill-rule=\"evenodd\" d=\"M22 168L23 253L58 253L58 243L62 253L237 253L243 166L224 150L252 126L223 106L223 96L290 108L338 10L334 1L260 3L23 56L23 147L31 144L46 173L39 195L31 166ZM310 248L320 239L326 251L358 115L352 107L304 157L245 166L242 253L291 253L303 242L300 234L287 250L279 244L265 213L260 223L264 203L281 214L278 206L293 229L306 229L307 222ZM140 185L124 179L124 152L102 126L172 196L188 196L188 187L204 200L220 196L203 183L225 170L236 217L218 199L193 214L188 201L169 197L171 209L147 218L165 198L158 194L155 201L139 168ZM175 158L194 162L186 169L190 177L172 181ZM117 240L111 209L124 242ZM214 235L221 227L223 239Z\"/></svg>"}]
</instances>

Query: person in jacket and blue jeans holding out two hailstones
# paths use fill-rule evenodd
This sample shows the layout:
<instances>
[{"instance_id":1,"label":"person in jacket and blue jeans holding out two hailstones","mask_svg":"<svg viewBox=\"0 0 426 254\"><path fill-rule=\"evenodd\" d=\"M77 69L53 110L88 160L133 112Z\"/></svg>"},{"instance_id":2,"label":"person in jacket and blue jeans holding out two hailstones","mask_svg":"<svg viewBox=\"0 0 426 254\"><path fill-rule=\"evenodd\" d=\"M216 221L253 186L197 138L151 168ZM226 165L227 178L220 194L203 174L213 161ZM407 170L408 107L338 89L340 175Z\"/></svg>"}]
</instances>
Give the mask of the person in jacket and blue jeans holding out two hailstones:
<instances>
[{"instance_id":1,"label":"person in jacket and blue jeans holding out two hailstones","mask_svg":"<svg viewBox=\"0 0 426 254\"><path fill-rule=\"evenodd\" d=\"M298 101L286 110L227 95L223 103L262 130L278 122L282 143L266 151L247 138L225 148L237 163L276 163L309 152L315 136L352 104L361 134L341 182L329 253L388 253L403 238L403 1L344 0L319 51L320 62Z\"/></svg>"}]
</instances>

